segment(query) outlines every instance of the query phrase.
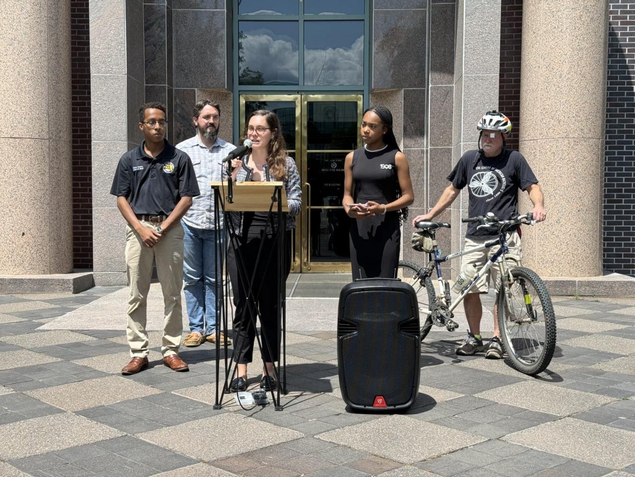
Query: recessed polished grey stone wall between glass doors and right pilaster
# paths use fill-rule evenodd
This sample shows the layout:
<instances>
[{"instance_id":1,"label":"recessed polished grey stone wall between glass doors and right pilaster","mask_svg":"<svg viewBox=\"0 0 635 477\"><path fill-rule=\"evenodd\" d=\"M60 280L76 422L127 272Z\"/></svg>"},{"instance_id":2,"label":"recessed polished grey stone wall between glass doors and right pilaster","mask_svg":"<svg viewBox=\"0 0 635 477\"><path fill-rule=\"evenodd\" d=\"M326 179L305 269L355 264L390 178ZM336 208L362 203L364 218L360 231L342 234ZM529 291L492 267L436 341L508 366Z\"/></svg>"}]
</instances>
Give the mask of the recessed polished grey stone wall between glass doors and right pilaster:
<instances>
[{"instance_id":1,"label":"recessed polished grey stone wall between glass doors and right pilaster","mask_svg":"<svg viewBox=\"0 0 635 477\"><path fill-rule=\"evenodd\" d=\"M434 204L451 169L455 2L376 0L373 6L370 103L392 111L415 191L411 219ZM408 220L402 254L418 261L420 254L410 247L412 232ZM439 234L439 242L448 249L450 234Z\"/></svg>"}]
</instances>

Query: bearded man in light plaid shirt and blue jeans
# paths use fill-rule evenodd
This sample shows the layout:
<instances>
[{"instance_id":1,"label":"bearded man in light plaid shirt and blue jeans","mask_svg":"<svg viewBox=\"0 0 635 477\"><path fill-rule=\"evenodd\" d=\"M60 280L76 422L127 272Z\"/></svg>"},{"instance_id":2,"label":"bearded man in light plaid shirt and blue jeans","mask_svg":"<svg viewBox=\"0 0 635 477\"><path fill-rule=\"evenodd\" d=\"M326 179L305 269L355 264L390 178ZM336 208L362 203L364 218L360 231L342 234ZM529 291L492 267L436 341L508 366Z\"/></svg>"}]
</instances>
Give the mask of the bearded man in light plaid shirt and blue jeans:
<instances>
[{"instance_id":1,"label":"bearded man in light plaid shirt and blue jeans","mask_svg":"<svg viewBox=\"0 0 635 477\"><path fill-rule=\"evenodd\" d=\"M218 137L220 126L220 106L209 99L196 103L192 113L196 135L177 144L177 148L187 153L192 160L201 195L194 203L182 223L185 231L183 239L185 252L183 275L185 282L185 304L190 322L190 334L184 345L195 347L204 341L215 343L216 336L216 282L221 280L222 263L216 263L214 248L217 240L214 223L214 193L210 182L222 180L222 160L236 146ZM220 216L219 230L223 228ZM229 338L219 333L220 344Z\"/></svg>"}]
</instances>

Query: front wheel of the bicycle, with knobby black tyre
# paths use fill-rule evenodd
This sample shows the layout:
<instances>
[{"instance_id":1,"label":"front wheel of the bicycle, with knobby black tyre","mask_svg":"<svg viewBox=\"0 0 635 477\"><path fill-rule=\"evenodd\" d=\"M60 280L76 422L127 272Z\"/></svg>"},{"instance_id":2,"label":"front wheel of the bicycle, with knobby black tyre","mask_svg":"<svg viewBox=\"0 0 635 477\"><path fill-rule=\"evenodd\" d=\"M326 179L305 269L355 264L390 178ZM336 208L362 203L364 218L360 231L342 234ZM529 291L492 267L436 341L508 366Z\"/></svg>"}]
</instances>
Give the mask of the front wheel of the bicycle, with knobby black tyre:
<instances>
[{"instance_id":1,"label":"front wheel of the bicycle, with knobby black tyre","mask_svg":"<svg viewBox=\"0 0 635 477\"><path fill-rule=\"evenodd\" d=\"M512 366L526 375L544 371L556 348L556 315L544 282L522 266L513 282L502 278L498 291L498 328Z\"/></svg>"}]
</instances>

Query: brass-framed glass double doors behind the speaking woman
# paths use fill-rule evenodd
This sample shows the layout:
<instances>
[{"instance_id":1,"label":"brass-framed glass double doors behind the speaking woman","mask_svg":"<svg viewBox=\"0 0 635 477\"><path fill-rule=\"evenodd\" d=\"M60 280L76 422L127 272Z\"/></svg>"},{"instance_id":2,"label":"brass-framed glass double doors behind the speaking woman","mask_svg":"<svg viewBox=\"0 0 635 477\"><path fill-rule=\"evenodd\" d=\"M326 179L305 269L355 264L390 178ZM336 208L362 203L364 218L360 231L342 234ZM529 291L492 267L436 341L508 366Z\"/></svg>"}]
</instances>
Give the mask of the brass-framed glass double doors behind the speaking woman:
<instances>
[{"instance_id":1,"label":"brass-framed glass double doors behind the speaking woman","mask_svg":"<svg viewBox=\"0 0 635 477\"><path fill-rule=\"evenodd\" d=\"M274 111L302 180L292 272L350 272L349 219L342 209L344 158L361 146L361 94L241 95L239 125L257 109Z\"/></svg>"}]
</instances>

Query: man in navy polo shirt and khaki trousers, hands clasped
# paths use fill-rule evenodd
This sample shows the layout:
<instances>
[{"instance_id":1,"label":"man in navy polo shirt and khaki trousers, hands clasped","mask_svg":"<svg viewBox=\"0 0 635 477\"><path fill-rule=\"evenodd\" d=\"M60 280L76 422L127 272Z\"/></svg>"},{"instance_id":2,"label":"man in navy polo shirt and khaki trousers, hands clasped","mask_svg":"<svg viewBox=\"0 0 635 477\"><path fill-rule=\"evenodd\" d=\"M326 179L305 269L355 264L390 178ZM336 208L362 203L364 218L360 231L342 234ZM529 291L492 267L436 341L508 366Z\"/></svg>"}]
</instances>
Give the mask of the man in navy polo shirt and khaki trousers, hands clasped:
<instances>
[{"instance_id":1,"label":"man in navy polo shirt and khaki trousers, hands clasped","mask_svg":"<svg viewBox=\"0 0 635 477\"><path fill-rule=\"evenodd\" d=\"M119 160L110 193L126 226L126 271L130 283L126 335L130 363L121 370L131 375L148 366L148 334L145 331L147 296L152 279L152 259L164 300L163 364L174 371L188 371L178 357L183 332L183 227L181 218L199 195L194 167L187 154L166 141L165 106L145 103L139 109L139 128L144 142Z\"/></svg>"}]
</instances>

